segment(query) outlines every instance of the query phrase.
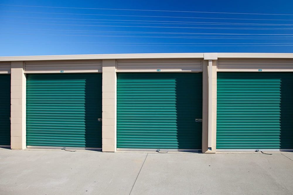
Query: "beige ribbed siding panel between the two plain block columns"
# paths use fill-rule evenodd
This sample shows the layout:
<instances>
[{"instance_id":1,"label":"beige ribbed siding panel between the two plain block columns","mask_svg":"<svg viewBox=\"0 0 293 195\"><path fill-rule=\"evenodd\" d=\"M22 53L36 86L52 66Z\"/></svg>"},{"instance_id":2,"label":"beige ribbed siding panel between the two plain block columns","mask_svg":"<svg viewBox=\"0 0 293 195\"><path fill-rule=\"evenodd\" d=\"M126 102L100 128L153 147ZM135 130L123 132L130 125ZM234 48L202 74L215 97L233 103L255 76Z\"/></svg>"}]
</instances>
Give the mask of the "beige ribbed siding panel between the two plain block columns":
<instances>
[{"instance_id":1,"label":"beige ribbed siding panel between the two plain block columns","mask_svg":"<svg viewBox=\"0 0 293 195\"><path fill-rule=\"evenodd\" d=\"M101 60L27 61L25 73L91 73L102 71Z\"/></svg>"}]
</instances>

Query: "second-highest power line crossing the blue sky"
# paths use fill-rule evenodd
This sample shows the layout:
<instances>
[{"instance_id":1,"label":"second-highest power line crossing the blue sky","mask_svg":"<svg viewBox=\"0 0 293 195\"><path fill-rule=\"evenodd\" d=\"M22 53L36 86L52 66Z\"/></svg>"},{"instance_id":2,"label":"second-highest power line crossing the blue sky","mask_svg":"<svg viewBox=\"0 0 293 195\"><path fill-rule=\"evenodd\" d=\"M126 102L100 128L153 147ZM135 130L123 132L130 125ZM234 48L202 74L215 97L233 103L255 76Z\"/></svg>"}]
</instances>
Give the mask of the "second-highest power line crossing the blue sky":
<instances>
[{"instance_id":1,"label":"second-highest power line crossing the blue sky","mask_svg":"<svg viewBox=\"0 0 293 195\"><path fill-rule=\"evenodd\" d=\"M40 13L40 14L63 14L63 15L99 15L99 16L127 16L127 17L150 17L150 18L194 18L194 19L221 19L221 20L274 20L274 21L293 21L289 19L255 19L255 18L206 18L206 17L180 17L180 16L155 16L155 15L115 15L115 14L88 14L88 13L54 13L54 12L32 12L32 11L9 11L17 13Z\"/></svg>"}]
</instances>

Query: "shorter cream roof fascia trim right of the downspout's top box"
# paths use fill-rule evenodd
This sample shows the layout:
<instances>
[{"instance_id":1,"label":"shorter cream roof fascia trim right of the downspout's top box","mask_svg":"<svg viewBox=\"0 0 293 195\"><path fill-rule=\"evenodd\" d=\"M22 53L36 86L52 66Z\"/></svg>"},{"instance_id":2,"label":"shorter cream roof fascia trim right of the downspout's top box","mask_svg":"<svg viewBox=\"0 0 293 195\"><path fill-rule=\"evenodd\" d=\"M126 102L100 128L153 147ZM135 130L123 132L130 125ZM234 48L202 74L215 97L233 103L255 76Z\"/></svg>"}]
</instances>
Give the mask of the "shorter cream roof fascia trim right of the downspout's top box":
<instances>
[{"instance_id":1,"label":"shorter cream roof fascia trim right of the downspout's top box","mask_svg":"<svg viewBox=\"0 0 293 195\"><path fill-rule=\"evenodd\" d=\"M293 53L218 53L218 58L293 58Z\"/></svg>"}]
</instances>

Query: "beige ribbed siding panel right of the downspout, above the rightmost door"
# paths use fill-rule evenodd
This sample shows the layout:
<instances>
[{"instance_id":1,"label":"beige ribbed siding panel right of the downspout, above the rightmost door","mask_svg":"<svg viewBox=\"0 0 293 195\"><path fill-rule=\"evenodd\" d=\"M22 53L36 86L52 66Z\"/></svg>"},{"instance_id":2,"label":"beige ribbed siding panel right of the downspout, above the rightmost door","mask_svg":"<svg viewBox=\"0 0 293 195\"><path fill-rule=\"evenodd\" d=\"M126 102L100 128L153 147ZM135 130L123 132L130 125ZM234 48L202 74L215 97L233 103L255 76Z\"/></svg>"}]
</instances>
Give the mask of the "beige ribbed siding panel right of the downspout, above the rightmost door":
<instances>
[{"instance_id":1,"label":"beige ribbed siding panel right of the downspout, above the rightmost door","mask_svg":"<svg viewBox=\"0 0 293 195\"><path fill-rule=\"evenodd\" d=\"M219 72L233 71L293 71L293 59L219 59Z\"/></svg>"}]
</instances>

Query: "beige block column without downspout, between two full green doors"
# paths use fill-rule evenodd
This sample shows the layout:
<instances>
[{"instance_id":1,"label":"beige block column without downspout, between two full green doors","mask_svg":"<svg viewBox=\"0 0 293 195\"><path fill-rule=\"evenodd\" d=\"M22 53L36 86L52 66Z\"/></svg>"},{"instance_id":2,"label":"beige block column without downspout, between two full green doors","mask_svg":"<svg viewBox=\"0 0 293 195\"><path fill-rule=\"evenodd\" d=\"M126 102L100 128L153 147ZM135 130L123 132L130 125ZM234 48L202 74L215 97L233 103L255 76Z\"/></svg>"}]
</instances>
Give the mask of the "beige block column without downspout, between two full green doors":
<instances>
[{"instance_id":1,"label":"beige block column without downspout, between two full green doors","mask_svg":"<svg viewBox=\"0 0 293 195\"><path fill-rule=\"evenodd\" d=\"M102 151L116 151L116 60L103 60Z\"/></svg>"}]
</instances>

